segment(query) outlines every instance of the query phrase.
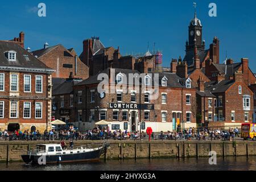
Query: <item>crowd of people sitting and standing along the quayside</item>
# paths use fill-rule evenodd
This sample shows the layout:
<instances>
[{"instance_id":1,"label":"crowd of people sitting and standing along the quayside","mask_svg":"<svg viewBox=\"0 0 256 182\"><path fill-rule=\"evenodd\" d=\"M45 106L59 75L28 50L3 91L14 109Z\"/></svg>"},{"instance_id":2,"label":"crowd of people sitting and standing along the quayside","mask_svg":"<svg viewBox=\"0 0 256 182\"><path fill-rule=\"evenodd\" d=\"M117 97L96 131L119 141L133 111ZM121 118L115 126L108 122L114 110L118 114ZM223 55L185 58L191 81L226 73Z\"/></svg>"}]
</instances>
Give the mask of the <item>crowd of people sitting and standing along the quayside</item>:
<instances>
[{"instance_id":1,"label":"crowd of people sitting and standing along the quayside","mask_svg":"<svg viewBox=\"0 0 256 182\"><path fill-rule=\"evenodd\" d=\"M109 127L99 127L94 128L93 130L87 130L84 133L75 130L72 126L69 129L64 129L60 131L45 130L44 133L40 131L31 131L28 130L22 132L21 130L15 130L13 133L8 132L7 130L0 130L0 139L2 140L138 140L146 139L148 137L143 131L129 132L127 130L115 130L111 131ZM228 131L220 129L196 129L191 127L188 130L180 132L171 132L167 131L164 133L152 133L151 138L153 140L234 140L236 137L239 137L238 128L229 129Z\"/></svg>"}]
</instances>

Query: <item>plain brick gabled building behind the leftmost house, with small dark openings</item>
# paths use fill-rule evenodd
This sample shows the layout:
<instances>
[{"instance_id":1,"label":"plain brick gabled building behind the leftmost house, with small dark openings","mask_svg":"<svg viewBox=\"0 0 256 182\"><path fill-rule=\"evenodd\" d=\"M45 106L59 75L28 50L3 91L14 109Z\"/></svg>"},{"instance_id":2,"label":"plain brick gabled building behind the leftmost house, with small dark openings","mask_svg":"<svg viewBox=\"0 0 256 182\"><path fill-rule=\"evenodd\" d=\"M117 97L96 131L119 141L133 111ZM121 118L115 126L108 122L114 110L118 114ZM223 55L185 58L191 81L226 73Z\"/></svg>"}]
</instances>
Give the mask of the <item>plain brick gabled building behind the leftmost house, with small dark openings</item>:
<instances>
[{"instance_id":1,"label":"plain brick gabled building behind the leftmost house, with small dark openings","mask_svg":"<svg viewBox=\"0 0 256 182\"><path fill-rule=\"evenodd\" d=\"M32 55L47 65L55 69L52 78L69 78L73 75L75 78L86 79L89 77L88 67L82 63L73 48L66 49L61 44L49 47L44 44L44 48L33 51Z\"/></svg>"}]
</instances>

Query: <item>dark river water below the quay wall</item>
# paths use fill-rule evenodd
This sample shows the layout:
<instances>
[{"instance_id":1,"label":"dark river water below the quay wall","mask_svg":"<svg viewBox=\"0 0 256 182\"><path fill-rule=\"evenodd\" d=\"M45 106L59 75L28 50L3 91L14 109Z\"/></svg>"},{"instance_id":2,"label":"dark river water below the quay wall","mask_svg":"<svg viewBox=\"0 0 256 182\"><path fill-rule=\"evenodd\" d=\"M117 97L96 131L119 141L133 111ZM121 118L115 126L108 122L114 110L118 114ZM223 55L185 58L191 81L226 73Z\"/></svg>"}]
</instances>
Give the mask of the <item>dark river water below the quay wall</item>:
<instances>
[{"instance_id":1,"label":"dark river water below the quay wall","mask_svg":"<svg viewBox=\"0 0 256 182\"><path fill-rule=\"evenodd\" d=\"M210 165L208 158L104 160L97 163L27 166L24 163L0 164L0 171L256 171L256 157L218 158Z\"/></svg>"}]
</instances>

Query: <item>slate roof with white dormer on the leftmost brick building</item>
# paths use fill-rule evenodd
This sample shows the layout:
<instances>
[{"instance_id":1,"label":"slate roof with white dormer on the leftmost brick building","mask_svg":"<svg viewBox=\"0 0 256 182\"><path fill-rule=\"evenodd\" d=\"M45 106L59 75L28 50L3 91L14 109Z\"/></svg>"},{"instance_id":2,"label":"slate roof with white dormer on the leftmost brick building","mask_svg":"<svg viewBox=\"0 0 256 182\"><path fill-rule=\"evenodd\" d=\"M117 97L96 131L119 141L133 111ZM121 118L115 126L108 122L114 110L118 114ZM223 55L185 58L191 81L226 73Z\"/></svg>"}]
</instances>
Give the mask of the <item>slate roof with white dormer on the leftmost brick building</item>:
<instances>
[{"instance_id":1,"label":"slate roof with white dormer on the leftmost brick building","mask_svg":"<svg viewBox=\"0 0 256 182\"><path fill-rule=\"evenodd\" d=\"M16 61L9 61L7 57L8 51L16 52ZM26 60L24 55L27 55L29 60ZM20 47L14 42L0 41L0 65L8 67L21 67L21 68L38 68L47 69L53 71L53 69L47 67L40 60L36 59L31 53L27 52L24 48Z\"/></svg>"}]
</instances>

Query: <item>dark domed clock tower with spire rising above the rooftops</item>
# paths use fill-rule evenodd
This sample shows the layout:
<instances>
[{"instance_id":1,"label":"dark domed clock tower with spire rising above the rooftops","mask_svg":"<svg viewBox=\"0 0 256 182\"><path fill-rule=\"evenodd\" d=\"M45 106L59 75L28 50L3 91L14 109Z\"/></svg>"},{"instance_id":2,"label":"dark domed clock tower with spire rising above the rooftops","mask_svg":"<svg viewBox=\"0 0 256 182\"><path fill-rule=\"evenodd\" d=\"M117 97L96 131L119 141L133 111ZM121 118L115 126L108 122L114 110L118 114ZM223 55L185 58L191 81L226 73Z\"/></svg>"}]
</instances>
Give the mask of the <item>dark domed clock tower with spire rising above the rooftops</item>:
<instances>
[{"instance_id":1,"label":"dark domed clock tower with spire rising above the rooftops","mask_svg":"<svg viewBox=\"0 0 256 182\"><path fill-rule=\"evenodd\" d=\"M201 24L200 19L195 16L191 20L188 26L188 41L186 43L186 52L191 51L196 46L197 50L204 50L205 44L202 41L203 37L203 26Z\"/></svg>"}]
</instances>

